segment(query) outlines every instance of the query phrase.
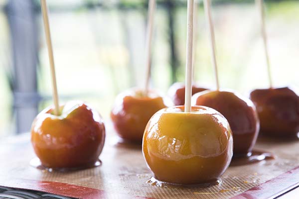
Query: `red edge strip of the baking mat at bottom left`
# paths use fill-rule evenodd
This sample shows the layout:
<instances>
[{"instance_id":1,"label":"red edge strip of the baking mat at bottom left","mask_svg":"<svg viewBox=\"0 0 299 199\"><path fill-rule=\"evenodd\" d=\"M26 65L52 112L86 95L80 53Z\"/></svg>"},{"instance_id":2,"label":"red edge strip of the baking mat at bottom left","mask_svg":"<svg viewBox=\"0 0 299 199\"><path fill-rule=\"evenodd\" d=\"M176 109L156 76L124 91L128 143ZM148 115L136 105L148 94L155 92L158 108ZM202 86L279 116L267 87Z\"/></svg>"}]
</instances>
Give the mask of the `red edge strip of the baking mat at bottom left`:
<instances>
[{"instance_id":1,"label":"red edge strip of the baking mat at bottom left","mask_svg":"<svg viewBox=\"0 0 299 199\"><path fill-rule=\"evenodd\" d=\"M150 199L146 197L130 196L126 194L107 193L103 190L92 189L66 183L19 180L19 179L2 179L0 177L0 186L14 189L24 189L38 192L45 192L76 199L109 199L111 197L121 199ZM11 186L13 185L13 186Z\"/></svg>"}]
</instances>

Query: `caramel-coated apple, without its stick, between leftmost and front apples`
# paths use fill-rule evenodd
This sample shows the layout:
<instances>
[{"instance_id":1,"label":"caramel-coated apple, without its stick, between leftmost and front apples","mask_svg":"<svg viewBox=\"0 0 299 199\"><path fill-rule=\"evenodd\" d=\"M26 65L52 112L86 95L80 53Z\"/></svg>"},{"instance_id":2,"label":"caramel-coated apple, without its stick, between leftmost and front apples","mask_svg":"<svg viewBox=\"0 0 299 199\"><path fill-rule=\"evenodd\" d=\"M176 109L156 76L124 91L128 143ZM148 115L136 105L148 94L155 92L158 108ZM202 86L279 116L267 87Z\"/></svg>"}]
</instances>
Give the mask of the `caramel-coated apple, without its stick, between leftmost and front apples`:
<instances>
[{"instance_id":1,"label":"caramel-coated apple, without its stick, between leftmost and front apples","mask_svg":"<svg viewBox=\"0 0 299 199\"><path fill-rule=\"evenodd\" d=\"M121 93L111 111L111 119L118 135L132 142L142 142L150 117L158 110L171 105L171 101L153 91L148 95L137 89Z\"/></svg>"}]
</instances>

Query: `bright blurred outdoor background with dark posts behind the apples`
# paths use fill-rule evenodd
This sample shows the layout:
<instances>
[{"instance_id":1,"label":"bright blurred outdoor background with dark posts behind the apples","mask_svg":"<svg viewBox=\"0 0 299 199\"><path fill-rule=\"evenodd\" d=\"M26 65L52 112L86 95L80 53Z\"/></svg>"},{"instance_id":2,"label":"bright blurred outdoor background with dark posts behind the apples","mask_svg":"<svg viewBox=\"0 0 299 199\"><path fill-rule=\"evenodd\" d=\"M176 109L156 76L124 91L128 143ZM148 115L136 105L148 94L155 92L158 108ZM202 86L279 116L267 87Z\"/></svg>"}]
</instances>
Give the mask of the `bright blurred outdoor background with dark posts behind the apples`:
<instances>
[{"instance_id":1,"label":"bright blurred outdoor background with dark posts behind the apples","mask_svg":"<svg viewBox=\"0 0 299 199\"><path fill-rule=\"evenodd\" d=\"M118 93L144 81L147 0L48 0L60 101L84 100L105 119ZM254 0L213 0L220 84L248 95L268 86ZM266 0L275 86L299 86L299 0ZM199 2L195 78L214 88ZM184 81L186 0L157 0L151 86ZM52 103L39 0L0 0L0 137L28 132Z\"/></svg>"}]
</instances>

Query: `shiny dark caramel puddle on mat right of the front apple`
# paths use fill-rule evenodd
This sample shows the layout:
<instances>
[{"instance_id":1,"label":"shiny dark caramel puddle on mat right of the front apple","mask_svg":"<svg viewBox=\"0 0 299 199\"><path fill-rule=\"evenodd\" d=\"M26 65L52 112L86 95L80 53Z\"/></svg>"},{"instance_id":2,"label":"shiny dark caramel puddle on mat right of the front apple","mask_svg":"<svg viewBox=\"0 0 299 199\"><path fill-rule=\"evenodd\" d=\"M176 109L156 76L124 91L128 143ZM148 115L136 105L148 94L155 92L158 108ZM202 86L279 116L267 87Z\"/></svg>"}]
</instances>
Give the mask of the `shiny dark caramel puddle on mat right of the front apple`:
<instances>
[{"instance_id":1,"label":"shiny dark caramel puddle on mat right of the front apple","mask_svg":"<svg viewBox=\"0 0 299 199\"><path fill-rule=\"evenodd\" d=\"M270 152L263 151L252 151L248 153L245 157L233 157L230 166L241 166L248 165L257 162L261 162L263 160L274 160L275 156Z\"/></svg>"}]
</instances>

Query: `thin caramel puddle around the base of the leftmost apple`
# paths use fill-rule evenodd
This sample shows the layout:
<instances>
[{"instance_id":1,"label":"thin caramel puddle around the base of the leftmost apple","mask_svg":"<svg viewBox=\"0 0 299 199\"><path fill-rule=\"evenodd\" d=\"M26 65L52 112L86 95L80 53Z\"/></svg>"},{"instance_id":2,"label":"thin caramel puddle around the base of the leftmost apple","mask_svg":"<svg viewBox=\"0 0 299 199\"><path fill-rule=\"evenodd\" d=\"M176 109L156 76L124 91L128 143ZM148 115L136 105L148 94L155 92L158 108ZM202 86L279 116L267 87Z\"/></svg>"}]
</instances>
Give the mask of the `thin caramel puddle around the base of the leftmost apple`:
<instances>
[{"instance_id":1,"label":"thin caramel puddle around the base of the leftmost apple","mask_svg":"<svg viewBox=\"0 0 299 199\"><path fill-rule=\"evenodd\" d=\"M43 173L44 172L72 172L72 171L79 171L79 170L84 170L84 169L90 169L90 168L94 168L94 167L99 167L102 165L102 161L101 160L98 160L97 162L95 162L93 165L89 165L89 166L86 166L86 167L76 167L76 168L48 168L48 167L45 167L41 164L39 158L33 158L31 161L30 161L30 166L36 168L36 169L39 169L41 170Z\"/></svg>"}]
</instances>

